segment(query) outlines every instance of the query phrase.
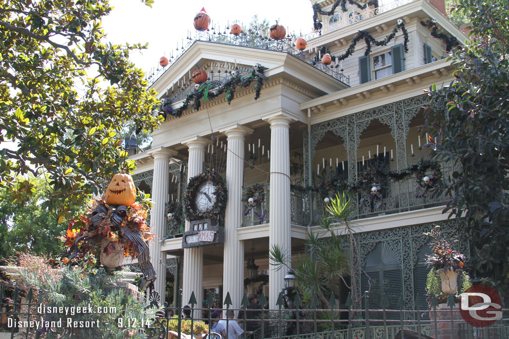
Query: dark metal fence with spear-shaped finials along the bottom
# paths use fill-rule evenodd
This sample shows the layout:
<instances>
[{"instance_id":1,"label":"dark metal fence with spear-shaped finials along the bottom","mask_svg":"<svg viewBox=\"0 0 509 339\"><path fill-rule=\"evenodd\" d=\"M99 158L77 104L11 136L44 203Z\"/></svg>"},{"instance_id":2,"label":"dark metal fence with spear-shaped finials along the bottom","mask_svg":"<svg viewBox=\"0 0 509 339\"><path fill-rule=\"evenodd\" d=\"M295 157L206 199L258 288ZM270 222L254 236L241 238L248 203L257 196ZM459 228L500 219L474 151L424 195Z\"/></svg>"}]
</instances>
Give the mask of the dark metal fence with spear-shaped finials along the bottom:
<instances>
[{"instance_id":1,"label":"dark metal fence with spear-shaped finials along the bottom","mask_svg":"<svg viewBox=\"0 0 509 339\"><path fill-rule=\"evenodd\" d=\"M59 336L37 328L12 326L13 323L23 323L27 319L42 321L45 318L44 313L38 313L41 295L38 300L34 300L33 295L32 290L26 292L15 288L10 289L10 297L6 297L4 290L0 289L0 339L80 337L72 330L67 336ZM341 309L334 305L323 309L315 297L304 309L301 308L302 302L298 295L290 302L294 307L285 308L285 305L288 307L289 297L288 294L280 293L275 310L266 308L267 299L263 293L257 302L249 302L244 294L240 309L231 307L229 293L221 307L214 305L211 295L205 305L197 307L194 294L188 305L182 306L180 290L177 306L163 307L155 319L143 322L140 332L146 338L158 339L205 337L205 333L220 332L220 326L215 326L215 322L221 320L224 332L211 333L208 337L229 337L230 332L238 328L233 324L237 322L249 339L509 338L509 309L501 309L502 319L493 324L473 327L461 317L458 305L450 302L452 296L449 296L448 305L438 305L433 298L433 306L426 310L406 310L402 303L399 304L400 309L387 310L383 302L386 299L384 295L381 296L379 309L370 309L367 306L369 302L362 302L366 306L358 310L352 309L351 305ZM158 301L159 295L152 292L147 303L160 306ZM233 316L227 319L227 315L232 312Z\"/></svg>"}]
</instances>

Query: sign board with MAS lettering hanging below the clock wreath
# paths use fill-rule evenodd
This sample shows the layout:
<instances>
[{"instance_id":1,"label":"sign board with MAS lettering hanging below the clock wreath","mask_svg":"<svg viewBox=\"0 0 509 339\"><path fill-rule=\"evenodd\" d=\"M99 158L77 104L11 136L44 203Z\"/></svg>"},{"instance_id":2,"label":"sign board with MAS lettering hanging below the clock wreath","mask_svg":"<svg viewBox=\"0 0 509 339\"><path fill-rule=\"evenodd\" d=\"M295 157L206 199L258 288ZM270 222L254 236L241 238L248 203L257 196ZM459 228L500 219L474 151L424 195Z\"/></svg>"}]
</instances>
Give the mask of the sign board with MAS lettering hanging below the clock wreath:
<instances>
[{"instance_id":1,"label":"sign board with MAS lettering hanging below the clock wreath","mask_svg":"<svg viewBox=\"0 0 509 339\"><path fill-rule=\"evenodd\" d=\"M224 228L214 219L191 221L189 231L182 236L182 248L224 243Z\"/></svg>"}]
</instances>

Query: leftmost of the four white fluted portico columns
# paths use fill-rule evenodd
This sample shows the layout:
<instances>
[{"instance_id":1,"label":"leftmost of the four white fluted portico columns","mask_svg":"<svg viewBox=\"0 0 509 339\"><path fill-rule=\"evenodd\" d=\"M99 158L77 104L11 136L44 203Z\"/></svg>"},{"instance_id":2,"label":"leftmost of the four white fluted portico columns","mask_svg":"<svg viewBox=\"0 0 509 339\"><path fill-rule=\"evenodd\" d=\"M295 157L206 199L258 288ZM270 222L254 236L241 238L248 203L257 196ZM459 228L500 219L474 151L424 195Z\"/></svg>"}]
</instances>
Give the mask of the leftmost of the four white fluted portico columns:
<instances>
[{"instance_id":1,"label":"leftmost of the four white fluted portico columns","mask_svg":"<svg viewBox=\"0 0 509 339\"><path fill-rule=\"evenodd\" d=\"M164 300L164 289L166 286L166 255L161 252L159 240L164 238L166 229L166 215L164 205L168 199L169 158L175 156L176 151L157 147L150 150L150 155L154 158L154 177L152 179L152 199L154 205L150 214L150 228L155 233L156 239L149 244L150 261L156 272L156 281L154 289Z\"/></svg>"}]
</instances>

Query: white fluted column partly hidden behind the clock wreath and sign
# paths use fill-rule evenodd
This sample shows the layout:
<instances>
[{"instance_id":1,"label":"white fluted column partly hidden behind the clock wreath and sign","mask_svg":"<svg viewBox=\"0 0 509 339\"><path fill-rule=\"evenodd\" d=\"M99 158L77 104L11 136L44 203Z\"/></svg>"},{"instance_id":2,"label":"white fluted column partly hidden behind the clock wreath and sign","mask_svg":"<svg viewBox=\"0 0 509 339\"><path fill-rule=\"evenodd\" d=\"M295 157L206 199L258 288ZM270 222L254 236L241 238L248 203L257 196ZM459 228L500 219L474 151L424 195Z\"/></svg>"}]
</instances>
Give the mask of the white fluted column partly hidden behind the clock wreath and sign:
<instances>
[{"instance_id":1,"label":"white fluted column partly hidden behind the clock wreath and sign","mask_svg":"<svg viewBox=\"0 0 509 339\"><path fill-rule=\"evenodd\" d=\"M205 148L208 141L205 138L195 136L181 143L189 148L189 159L187 160L187 181L193 176L203 172L203 163L205 161ZM186 221L185 230L189 230L189 222ZM184 249L184 272L182 275L182 305L186 305L194 291L197 305L202 307L203 300L203 248L195 247ZM197 312L194 315L199 317Z\"/></svg>"}]
</instances>

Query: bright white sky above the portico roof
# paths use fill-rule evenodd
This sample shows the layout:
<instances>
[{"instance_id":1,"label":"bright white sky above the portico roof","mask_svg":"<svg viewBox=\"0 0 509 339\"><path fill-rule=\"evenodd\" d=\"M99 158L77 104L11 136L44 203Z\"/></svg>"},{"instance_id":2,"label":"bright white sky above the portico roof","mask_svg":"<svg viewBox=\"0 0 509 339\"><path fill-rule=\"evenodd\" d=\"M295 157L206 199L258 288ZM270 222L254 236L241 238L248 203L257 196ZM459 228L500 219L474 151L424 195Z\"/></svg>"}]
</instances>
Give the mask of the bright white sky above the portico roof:
<instances>
[{"instance_id":1,"label":"bright white sky above the portico roof","mask_svg":"<svg viewBox=\"0 0 509 339\"><path fill-rule=\"evenodd\" d=\"M188 30L194 36L194 15L202 7L216 27L221 26L222 32L228 21L230 25L236 20L248 25L254 14L258 14L260 20L267 19L270 25L278 20L287 32L290 28L297 35L310 33L313 27L309 0L155 0L152 8L140 0L110 0L110 5L115 8L103 20L107 39L116 44L148 42L148 49L130 55L136 67L145 72L157 68L164 52L168 56L173 50L176 55L177 42L180 48Z\"/></svg>"}]
</instances>

